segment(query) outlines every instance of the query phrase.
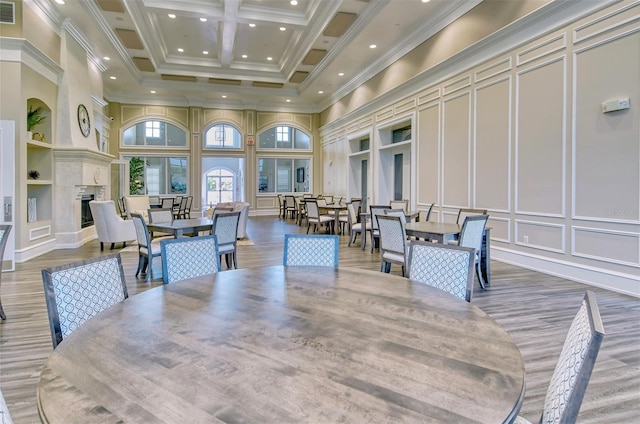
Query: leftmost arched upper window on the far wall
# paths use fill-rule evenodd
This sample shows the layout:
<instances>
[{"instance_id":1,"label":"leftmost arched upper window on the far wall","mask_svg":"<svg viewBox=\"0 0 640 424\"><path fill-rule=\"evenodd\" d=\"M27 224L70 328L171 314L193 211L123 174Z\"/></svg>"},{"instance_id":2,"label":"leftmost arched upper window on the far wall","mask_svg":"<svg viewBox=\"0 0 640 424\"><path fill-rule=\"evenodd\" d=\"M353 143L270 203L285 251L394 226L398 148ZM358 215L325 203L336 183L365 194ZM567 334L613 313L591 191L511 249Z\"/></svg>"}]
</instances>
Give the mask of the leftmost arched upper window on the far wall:
<instances>
[{"instance_id":1,"label":"leftmost arched upper window on the far wall","mask_svg":"<svg viewBox=\"0 0 640 424\"><path fill-rule=\"evenodd\" d=\"M124 146L186 147L187 132L168 122L148 120L123 131Z\"/></svg>"}]
</instances>

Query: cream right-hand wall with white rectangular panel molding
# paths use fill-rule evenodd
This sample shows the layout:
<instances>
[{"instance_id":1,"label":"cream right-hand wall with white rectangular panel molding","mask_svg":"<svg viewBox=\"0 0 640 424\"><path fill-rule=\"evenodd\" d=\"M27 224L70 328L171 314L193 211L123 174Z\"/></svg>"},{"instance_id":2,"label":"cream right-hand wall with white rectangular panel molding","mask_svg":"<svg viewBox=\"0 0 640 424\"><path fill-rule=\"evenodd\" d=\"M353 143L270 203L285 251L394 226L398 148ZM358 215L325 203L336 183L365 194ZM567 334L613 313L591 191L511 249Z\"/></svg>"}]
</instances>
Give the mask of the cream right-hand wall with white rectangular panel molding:
<instances>
[{"instance_id":1,"label":"cream right-hand wall with white rectangular panel molding","mask_svg":"<svg viewBox=\"0 0 640 424\"><path fill-rule=\"evenodd\" d=\"M640 296L639 12L623 1L544 34L512 31L517 47L487 42L464 69L463 52L440 65L446 77L425 72L325 125L325 154L347 155L351 134L415 114L413 206L436 203L441 221L486 208L494 259ZM601 112L619 97L631 108ZM373 162L383 199L392 174Z\"/></svg>"}]
</instances>

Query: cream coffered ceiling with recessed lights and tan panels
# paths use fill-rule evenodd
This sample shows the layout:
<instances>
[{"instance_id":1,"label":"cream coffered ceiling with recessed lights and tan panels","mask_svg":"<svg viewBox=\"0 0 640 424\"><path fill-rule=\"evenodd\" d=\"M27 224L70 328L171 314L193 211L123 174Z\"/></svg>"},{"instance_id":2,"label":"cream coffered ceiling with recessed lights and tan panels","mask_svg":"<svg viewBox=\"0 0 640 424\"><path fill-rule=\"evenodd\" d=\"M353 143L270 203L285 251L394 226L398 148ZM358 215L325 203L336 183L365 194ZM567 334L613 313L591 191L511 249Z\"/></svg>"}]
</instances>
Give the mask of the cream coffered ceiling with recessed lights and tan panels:
<instances>
[{"instance_id":1,"label":"cream coffered ceiling with recessed lights and tan panels","mask_svg":"<svg viewBox=\"0 0 640 424\"><path fill-rule=\"evenodd\" d=\"M481 0L34 1L109 101L321 111Z\"/></svg>"}]
</instances>

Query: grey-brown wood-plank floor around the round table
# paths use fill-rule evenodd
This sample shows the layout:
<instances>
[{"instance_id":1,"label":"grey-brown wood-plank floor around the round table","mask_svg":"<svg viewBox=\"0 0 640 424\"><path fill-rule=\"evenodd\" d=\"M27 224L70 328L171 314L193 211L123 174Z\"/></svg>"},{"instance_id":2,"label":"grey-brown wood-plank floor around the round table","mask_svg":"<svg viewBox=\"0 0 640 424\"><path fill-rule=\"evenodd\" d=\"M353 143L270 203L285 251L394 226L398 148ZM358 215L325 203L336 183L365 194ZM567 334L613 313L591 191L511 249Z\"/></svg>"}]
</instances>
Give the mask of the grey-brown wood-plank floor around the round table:
<instances>
[{"instance_id":1,"label":"grey-brown wood-plank floor around the round table","mask_svg":"<svg viewBox=\"0 0 640 424\"><path fill-rule=\"evenodd\" d=\"M238 247L239 267L282 263L283 234L304 232L292 220L249 220L253 246ZM378 252L347 246L340 237L340 266L379 270ZM7 320L0 323L0 388L16 424L38 423L36 385L51 353L41 269L110 253L94 241L78 249L58 250L2 275L2 302ZM122 252L129 295L162 284L134 277L137 253ZM160 261L154 264L161 276ZM398 267L392 273L399 274ZM537 422L545 391L567 329L586 289L595 292L605 326L604 338L582 404L581 423L636 423L640 420L640 299L492 262L492 285L476 287L473 304L498 321L513 337L526 364L527 390L521 415ZM491 399L487 399L491 402Z\"/></svg>"}]
</instances>

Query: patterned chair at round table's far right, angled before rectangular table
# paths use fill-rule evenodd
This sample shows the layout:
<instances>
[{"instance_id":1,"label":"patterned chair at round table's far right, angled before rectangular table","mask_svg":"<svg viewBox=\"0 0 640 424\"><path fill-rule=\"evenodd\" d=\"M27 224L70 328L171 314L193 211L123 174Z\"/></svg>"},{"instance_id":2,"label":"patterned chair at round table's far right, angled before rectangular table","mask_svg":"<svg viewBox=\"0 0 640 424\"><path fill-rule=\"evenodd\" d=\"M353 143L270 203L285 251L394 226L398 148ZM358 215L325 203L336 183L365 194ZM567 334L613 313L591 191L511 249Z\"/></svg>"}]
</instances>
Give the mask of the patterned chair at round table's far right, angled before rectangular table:
<instances>
[{"instance_id":1,"label":"patterned chair at round table's far right, angled before rectangular table","mask_svg":"<svg viewBox=\"0 0 640 424\"><path fill-rule=\"evenodd\" d=\"M469 247L413 241L409 244L407 275L471 302L475 251Z\"/></svg>"}]
</instances>

